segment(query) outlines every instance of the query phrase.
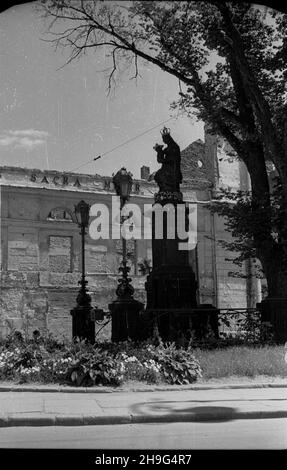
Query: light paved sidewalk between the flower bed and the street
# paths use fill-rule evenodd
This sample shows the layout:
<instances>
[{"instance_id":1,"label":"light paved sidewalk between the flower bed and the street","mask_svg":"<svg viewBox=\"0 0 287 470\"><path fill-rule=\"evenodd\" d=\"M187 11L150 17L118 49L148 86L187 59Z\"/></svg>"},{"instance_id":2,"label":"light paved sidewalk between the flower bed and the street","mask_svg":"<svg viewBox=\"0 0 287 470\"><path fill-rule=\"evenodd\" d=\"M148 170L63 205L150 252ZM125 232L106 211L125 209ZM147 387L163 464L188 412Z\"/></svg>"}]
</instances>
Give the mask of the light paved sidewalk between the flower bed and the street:
<instances>
[{"instance_id":1,"label":"light paved sidewalk between the flower bed and the street","mask_svg":"<svg viewBox=\"0 0 287 470\"><path fill-rule=\"evenodd\" d=\"M59 393L60 392L60 393ZM287 383L152 387L146 391L1 386L0 427L287 418Z\"/></svg>"}]
</instances>

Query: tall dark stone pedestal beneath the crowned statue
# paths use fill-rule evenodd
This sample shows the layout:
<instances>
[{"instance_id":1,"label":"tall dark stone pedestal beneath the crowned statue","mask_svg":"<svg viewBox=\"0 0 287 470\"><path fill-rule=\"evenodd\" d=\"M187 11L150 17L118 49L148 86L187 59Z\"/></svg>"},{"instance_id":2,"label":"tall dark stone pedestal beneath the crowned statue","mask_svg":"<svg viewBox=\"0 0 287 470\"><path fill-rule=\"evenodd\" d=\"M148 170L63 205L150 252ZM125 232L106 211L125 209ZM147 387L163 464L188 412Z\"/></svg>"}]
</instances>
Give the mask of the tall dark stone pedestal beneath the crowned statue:
<instances>
[{"instance_id":1,"label":"tall dark stone pedestal beneath the crowned statue","mask_svg":"<svg viewBox=\"0 0 287 470\"><path fill-rule=\"evenodd\" d=\"M181 196L181 197L179 197ZM163 213L162 238L157 237L156 213L152 220L152 253L153 268L147 276L145 284L147 292L146 317L156 324L159 336L163 341L178 342L178 338L190 330L190 315L187 311L196 308L197 282L189 264L189 251L180 250L179 242L187 242L178 237L177 221L180 216L178 204L182 203L181 193L158 193L157 203L174 208L175 238L168 238L170 221L167 213ZM182 208L181 208L182 209ZM173 211L173 209L172 209ZM182 215L182 213L181 213ZM186 225L186 217L183 223ZM173 313L174 309L174 313ZM180 311L183 315L180 314Z\"/></svg>"}]
</instances>

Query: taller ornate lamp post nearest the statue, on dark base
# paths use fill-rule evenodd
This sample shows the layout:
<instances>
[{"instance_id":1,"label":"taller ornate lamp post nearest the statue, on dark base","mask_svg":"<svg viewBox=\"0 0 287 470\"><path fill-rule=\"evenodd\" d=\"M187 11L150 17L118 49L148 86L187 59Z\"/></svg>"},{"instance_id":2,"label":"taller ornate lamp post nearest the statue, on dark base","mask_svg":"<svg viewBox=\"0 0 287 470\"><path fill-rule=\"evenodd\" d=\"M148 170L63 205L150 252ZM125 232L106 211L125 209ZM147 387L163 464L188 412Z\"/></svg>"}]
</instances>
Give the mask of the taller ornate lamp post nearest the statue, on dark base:
<instances>
[{"instance_id":1,"label":"taller ornate lamp post nearest the statue, on dark base","mask_svg":"<svg viewBox=\"0 0 287 470\"><path fill-rule=\"evenodd\" d=\"M126 168L121 168L114 175L113 184L116 194L120 196L120 232L123 258L122 265L119 267L122 276L118 279L117 300L109 304L109 310L112 314L112 341L124 341L128 338L135 340L139 339L139 312L144 305L133 298L134 288L131 285L131 278L128 276L131 268L127 266L126 239L122 235L122 226L129 218L129 216L122 215L122 209L130 198L133 184L132 174Z\"/></svg>"}]
</instances>

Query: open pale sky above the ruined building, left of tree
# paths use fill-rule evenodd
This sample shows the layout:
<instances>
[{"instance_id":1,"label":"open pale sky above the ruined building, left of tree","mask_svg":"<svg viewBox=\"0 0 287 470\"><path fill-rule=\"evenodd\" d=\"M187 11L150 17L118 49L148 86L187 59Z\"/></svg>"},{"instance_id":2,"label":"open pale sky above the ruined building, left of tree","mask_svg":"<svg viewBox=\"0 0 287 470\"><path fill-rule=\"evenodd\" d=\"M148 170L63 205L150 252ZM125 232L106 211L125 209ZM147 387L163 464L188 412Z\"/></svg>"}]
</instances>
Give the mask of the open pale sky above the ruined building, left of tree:
<instances>
[{"instance_id":1,"label":"open pale sky above the ruined building, left of tree","mask_svg":"<svg viewBox=\"0 0 287 470\"><path fill-rule=\"evenodd\" d=\"M136 178L142 165L156 169L153 146L161 143L163 125L110 151L176 116L170 103L178 96L178 80L145 65L142 78L123 74L108 96L104 52L60 68L67 51L55 52L41 40L44 33L34 3L0 14L0 165L103 175L124 165ZM182 149L203 139L203 124L196 120L178 117L166 125Z\"/></svg>"}]
</instances>

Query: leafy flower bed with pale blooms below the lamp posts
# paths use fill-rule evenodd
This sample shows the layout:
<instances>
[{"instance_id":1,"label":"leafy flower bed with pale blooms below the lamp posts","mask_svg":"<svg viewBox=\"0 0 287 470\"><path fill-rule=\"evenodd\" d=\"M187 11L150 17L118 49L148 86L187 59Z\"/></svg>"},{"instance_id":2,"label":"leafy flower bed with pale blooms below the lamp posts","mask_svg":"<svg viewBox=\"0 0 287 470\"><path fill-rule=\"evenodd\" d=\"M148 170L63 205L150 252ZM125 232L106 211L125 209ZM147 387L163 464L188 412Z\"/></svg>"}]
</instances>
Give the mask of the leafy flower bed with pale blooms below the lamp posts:
<instances>
[{"instance_id":1,"label":"leafy flower bed with pale blooms below the lamp posts","mask_svg":"<svg viewBox=\"0 0 287 470\"><path fill-rule=\"evenodd\" d=\"M58 343L8 338L0 346L0 380L118 386L128 380L189 384L201 377L191 349L148 342Z\"/></svg>"}]
</instances>

